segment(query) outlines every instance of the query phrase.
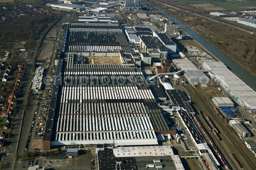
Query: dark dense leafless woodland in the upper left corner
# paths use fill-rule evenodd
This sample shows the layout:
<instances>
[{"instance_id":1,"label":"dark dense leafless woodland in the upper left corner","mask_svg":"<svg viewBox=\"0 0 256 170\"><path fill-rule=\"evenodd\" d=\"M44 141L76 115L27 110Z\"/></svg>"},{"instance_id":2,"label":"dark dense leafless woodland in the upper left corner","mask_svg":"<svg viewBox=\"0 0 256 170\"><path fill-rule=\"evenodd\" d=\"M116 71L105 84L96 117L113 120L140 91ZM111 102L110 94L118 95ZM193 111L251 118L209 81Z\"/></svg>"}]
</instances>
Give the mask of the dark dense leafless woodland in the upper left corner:
<instances>
[{"instance_id":1,"label":"dark dense leafless woodland in the upper left corner","mask_svg":"<svg viewBox=\"0 0 256 170\"><path fill-rule=\"evenodd\" d=\"M13 11L2 8L1 12L8 20L0 22L0 48L4 48L6 42L27 41L27 48L31 49L36 36L57 19L56 15L37 12L22 16L11 16Z\"/></svg>"}]
</instances>

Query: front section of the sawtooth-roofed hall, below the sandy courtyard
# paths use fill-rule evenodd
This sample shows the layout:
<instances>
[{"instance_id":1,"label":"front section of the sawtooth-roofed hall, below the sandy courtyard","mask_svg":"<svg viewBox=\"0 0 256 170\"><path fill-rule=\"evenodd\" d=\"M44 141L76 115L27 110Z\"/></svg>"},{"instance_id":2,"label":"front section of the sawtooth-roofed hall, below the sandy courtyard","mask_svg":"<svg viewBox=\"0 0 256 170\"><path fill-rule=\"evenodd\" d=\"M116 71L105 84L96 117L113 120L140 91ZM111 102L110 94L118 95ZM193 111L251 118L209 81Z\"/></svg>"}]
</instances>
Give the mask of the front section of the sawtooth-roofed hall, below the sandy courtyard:
<instances>
[{"instance_id":1,"label":"front section of the sawtooth-roofed hall, below the sandy courtyard","mask_svg":"<svg viewBox=\"0 0 256 170\"><path fill-rule=\"evenodd\" d=\"M79 78L88 83L63 85L51 145L157 145L155 132L173 133L139 68L74 61L74 55L68 56L65 77L69 82ZM140 84L129 83L135 76L141 77Z\"/></svg>"}]
</instances>

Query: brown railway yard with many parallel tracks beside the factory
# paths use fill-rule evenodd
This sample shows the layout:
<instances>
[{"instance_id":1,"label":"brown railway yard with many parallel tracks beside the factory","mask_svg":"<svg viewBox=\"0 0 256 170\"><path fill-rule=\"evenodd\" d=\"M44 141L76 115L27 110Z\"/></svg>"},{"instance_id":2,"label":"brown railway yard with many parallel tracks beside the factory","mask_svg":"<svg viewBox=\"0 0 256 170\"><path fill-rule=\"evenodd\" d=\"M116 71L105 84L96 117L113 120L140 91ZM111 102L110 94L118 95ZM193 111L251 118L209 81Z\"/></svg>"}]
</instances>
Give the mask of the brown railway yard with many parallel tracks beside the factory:
<instances>
[{"instance_id":1,"label":"brown railway yard with many parallel tracks beside the factory","mask_svg":"<svg viewBox=\"0 0 256 170\"><path fill-rule=\"evenodd\" d=\"M208 128L205 130L208 132L210 139L214 142L216 148L222 154L222 158L226 161L226 164L231 167L231 169L256 169L256 160L246 148L244 143L238 138L236 133L232 131L225 119L215 114L214 106L211 105L206 96L202 93L199 87L194 88L190 84L183 86L186 88L190 95L191 101L194 102L194 106L197 111L202 111L204 116L209 116L214 123L214 125L220 130L219 136L222 140L218 140L215 135L209 131ZM197 115L197 118L205 127L207 124L201 116ZM238 160L241 162L243 168L240 168L235 162L230 152L234 153Z\"/></svg>"}]
</instances>

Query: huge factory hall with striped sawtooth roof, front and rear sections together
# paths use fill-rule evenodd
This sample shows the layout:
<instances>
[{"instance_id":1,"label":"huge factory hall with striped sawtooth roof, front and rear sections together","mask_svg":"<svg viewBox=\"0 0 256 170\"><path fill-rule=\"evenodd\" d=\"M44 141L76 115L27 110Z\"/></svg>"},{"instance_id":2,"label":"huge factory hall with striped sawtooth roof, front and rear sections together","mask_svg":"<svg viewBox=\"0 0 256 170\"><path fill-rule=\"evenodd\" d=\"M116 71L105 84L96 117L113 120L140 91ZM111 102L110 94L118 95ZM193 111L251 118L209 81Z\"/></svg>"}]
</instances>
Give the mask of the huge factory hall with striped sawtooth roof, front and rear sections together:
<instances>
[{"instance_id":1,"label":"huge factory hall with striped sawtooth roof, front and rear sections together","mask_svg":"<svg viewBox=\"0 0 256 170\"><path fill-rule=\"evenodd\" d=\"M155 45L164 48L161 42ZM119 24L65 25L61 46L65 59L58 64L65 83L56 88L55 111L49 112L53 118L47 122L43 148L71 143L158 145L157 134L176 134L135 66L135 61L143 62L138 57L148 53L137 54L131 47ZM89 63L92 57L120 58L122 63Z\"/></svg>"}]
</instances>

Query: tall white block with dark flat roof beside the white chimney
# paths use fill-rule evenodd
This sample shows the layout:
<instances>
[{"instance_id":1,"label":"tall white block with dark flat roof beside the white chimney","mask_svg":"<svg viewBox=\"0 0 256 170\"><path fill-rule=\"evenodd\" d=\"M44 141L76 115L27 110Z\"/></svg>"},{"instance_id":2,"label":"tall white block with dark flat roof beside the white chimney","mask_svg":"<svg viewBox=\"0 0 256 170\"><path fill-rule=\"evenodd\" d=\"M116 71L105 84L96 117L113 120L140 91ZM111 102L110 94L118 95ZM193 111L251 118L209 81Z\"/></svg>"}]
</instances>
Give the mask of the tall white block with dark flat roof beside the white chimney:
<instances>
[{"instance_id":1,"label":"tall white block with dark flat roof beside the white chimney","mask_svg":"<svg viewBox=\"0 0 256 170\"><path fill-rule=\"evenodd\" d=\"M165 32L153 31L153 37L157 37L165 46L168 53L176 53L177 45L166 35Z\"/></svg>"}]
</instances>

